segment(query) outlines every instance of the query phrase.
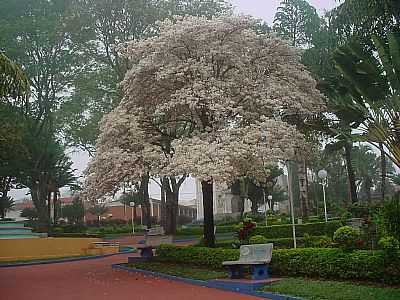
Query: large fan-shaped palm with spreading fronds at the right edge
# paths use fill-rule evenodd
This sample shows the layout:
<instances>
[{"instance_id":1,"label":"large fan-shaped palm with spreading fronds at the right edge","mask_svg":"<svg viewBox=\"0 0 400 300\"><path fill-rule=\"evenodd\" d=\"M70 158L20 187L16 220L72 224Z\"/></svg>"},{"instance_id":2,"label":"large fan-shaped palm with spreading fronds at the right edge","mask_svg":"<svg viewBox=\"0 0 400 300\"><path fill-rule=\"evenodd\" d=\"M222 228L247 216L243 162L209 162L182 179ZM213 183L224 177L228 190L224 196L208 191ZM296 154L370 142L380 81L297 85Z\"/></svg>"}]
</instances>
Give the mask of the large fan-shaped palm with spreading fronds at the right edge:
<instances>
[{"instance_id":1,"label":"large fan-shaped palm with spreading fronds at the right edge","mask_svg":"<svg viewBox=\"0 0 400 300\"><path fill-rule=\"evenodd\" d=\"M400 166L400 35L374 35L372 44L378 55L366 43L350 43L336 51L334 60L351 91L347 106L364 116L358 139L381 151L384 198L385 158Z\"/></svg>"}]
</instances>

